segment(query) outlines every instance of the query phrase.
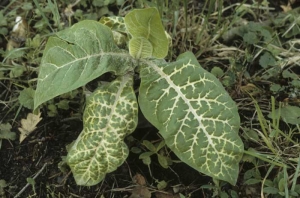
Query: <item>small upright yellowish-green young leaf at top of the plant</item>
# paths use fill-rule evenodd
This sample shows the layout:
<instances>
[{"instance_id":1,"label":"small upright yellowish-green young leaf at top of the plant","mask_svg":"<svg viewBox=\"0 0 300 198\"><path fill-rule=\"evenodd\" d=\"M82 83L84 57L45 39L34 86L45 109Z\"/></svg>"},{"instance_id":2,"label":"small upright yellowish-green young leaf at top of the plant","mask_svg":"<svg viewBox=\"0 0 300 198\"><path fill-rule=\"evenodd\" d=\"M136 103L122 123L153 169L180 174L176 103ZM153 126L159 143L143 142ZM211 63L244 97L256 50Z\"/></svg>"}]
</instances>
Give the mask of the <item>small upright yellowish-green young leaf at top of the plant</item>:
<instances>
[{"instance_id":1,"label":"small upright yellowish-green young leaf at top of the plant","mask_svg":"<svg viewBox=\"0 0 300 198\"><path fill-rule=\"evenodd\" d=\"M164 58L168 54L169 41L156 8L136 9L125 16L125 25L133 38L143 37L152 47L152 56Z\"/></svg>"}]
</instances>

